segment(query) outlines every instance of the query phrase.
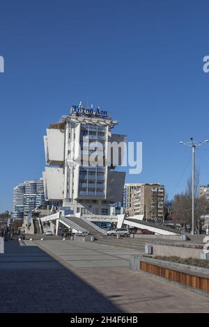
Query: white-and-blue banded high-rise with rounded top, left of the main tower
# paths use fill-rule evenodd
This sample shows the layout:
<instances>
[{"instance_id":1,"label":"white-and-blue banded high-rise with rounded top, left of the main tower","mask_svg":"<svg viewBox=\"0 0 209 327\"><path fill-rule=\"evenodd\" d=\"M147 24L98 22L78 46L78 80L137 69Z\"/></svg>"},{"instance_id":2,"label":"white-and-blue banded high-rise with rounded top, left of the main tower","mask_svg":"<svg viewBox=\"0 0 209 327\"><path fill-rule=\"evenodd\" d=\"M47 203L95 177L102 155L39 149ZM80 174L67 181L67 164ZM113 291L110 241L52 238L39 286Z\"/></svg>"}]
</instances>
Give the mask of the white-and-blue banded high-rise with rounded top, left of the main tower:
<instances>
[{"instance_id":1,"label":"white-and-blue banded high-rise with rounded top, left of the main tower","mask_svg":"<svg viewBox=\"0 0 209 327\"><path fill-rule=\"evenodd\" d=\"M45 201L43 180L26 180L13 189L13 212L12 218L23 219L24 213L40 205L51 205ZM54 205L57 205L54 203Z\"/></svg>"}]
</instances>

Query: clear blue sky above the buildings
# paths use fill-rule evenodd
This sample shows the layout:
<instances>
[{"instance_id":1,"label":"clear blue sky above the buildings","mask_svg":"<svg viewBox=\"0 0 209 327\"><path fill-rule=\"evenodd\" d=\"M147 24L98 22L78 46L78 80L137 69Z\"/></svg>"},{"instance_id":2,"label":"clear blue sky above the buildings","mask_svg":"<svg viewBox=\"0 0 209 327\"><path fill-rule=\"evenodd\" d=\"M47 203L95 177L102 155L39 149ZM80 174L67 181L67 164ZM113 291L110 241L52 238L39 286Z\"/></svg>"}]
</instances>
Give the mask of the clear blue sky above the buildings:
<instances>
[{"instance_id":1,"label":"clear blue sky above the buildings","mask_svg":"<svg viewBox=\"0 0 209 327\"><path fill-rule=\"evenodd\" d=\"M209 138L209 3L193 0L1 0L0 212L13 186L39 178L42 136L72 104L111 111L115 131L143 142L143 172L127 182L183 191L190 150ZM209 145L197 152L209 183ZM180 176L183 174L180 182Z\"/></svg>"}]
</instances>

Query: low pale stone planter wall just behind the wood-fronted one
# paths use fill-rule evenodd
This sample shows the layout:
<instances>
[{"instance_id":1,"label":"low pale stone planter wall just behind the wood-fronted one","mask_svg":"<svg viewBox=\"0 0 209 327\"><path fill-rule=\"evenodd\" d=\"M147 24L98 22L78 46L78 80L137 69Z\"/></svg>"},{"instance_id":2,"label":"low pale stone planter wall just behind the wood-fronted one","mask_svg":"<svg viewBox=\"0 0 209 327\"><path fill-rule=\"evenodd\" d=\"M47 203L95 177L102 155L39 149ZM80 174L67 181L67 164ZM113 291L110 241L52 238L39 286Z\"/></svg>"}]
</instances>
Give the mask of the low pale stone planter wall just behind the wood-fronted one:
<instances>
[{"instance_id":1,"label":"low pale stone planter wall just behind the wood-fronted one","mask_svg":"<svg viewBox=\"0 0 209 327\"><path fill-rule=\"evenodd\" d=\"M153 255L162 255L164 257L194 257L201 258L203 250L199 248L183 248L183 246L169 246L162 244L150 244L153 246Z\"/></svg>"}]
</instances>

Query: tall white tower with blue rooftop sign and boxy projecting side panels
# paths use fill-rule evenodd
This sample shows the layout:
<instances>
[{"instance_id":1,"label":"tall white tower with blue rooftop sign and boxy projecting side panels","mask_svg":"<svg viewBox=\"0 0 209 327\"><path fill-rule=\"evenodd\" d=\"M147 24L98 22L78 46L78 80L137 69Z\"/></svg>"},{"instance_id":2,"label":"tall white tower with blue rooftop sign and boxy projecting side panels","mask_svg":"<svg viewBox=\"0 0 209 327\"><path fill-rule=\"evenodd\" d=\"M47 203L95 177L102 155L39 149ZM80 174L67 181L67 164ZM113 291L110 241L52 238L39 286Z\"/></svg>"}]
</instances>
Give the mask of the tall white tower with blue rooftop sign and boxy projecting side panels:
<instances>
[{"instance_id":1,"label":"tall white tower with blue rooftop sign and boxy projecting side panels","mask_svg":"<svg viewBox=\"0 0 209 327\"><path fill-rule=\"evenodd\" d=\"M73 214L98 215L108 215L110 203L122 200L125 173L115 168L123 159L125 136L112 134L116 124L107 111L80 103L49 125L43 172L47 200L61 200ZM119 145L118 152L112 144Z\"/></svg>"}]
</instances>

